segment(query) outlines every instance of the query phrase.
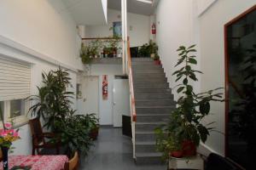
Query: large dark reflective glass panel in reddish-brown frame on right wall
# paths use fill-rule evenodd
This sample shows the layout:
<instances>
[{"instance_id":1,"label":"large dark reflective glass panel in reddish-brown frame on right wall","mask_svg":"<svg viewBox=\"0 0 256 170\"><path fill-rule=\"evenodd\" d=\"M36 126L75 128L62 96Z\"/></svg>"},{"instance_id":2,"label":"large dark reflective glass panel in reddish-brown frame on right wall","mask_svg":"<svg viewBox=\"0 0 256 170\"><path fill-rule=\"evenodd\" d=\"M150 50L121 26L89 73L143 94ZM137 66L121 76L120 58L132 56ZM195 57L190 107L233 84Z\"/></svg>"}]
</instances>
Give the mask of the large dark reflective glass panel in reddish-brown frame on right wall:
<instances>
[{"instance_id":1,"label":"large dark reflective glass panel in reddish-brown frame on right wall","mask_svg":"<svg viewBox=\"0 0 256 170\"><path fill-rule=\"evenodd\" d=\"M226 156L255 169L256 153L256 8L225 26Z\"/></svg>"}]
</instances>

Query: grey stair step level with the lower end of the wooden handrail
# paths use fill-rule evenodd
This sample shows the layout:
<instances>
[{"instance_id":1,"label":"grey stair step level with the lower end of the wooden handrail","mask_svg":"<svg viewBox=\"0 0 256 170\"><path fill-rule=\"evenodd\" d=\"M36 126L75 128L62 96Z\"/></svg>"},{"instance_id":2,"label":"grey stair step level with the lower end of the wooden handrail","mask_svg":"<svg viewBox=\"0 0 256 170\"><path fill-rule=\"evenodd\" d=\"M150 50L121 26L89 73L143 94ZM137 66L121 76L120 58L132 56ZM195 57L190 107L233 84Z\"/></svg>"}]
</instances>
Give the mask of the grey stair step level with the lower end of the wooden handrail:
<instances>
[{"instance_id":1,"label":"grey stair step level with the lower end of the wooden handrail","mask_svg":"<svg viewBox=\"0 0 256 170\"><path fill-rule=\"evenodd\" d=\"M167 122L169 117L170 117L170 114L137 115L137 122Z\"/></svg>"}]
</instances>

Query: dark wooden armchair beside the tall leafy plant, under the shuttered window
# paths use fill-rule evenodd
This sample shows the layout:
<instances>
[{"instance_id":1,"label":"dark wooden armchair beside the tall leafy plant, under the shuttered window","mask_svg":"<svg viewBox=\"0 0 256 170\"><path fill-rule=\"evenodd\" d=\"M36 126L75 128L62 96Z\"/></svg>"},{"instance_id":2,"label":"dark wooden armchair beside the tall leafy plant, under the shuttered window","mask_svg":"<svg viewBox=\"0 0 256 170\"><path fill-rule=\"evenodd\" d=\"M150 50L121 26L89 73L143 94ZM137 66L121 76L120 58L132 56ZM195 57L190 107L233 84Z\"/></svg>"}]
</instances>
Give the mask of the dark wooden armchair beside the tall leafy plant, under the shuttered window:
<instances>
[{"instance_id":1,"label":"dark wooden armchair beside the tall leafy plant, under the shuttered window","mask_svg":"<svg viewBox=\"0 0 256 170\"><path fill-rule=\"evenodd\" d=\"M32 155L58 155L60 153L61 139L54 133L43 133L39 118L29 121L32 132ZM55 142L45 139L55 139ZM53 152L55 150L55 153Z\"/></svg>"}]
</instances>

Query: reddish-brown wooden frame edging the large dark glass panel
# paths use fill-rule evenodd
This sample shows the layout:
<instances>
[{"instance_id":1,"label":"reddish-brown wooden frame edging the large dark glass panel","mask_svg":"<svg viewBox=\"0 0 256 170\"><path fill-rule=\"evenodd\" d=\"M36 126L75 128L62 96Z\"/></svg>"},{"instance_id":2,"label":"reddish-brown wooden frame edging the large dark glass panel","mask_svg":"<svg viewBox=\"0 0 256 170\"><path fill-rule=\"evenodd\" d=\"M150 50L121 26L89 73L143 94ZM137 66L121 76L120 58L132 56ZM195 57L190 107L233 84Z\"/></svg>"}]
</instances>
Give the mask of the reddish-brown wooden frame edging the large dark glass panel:
<instances>
[{"instance_id":1,"label":"reddish-brown wooden frame edging the large dark glass panel","mask_svg":"<svg viewBox=\"0 0 256 170\"><path fill-rule=\"evenodd\" d=\"M256 10L256 4L252 8L248 8L244 13L239 14L235 19L230 20L224 25L224 64L225 64L225 144L224 154L228 154L228 123L229 123L229 51L228 51L228 27L238 20L241 20L245 15Z\"/></svg>"}]
</instances>

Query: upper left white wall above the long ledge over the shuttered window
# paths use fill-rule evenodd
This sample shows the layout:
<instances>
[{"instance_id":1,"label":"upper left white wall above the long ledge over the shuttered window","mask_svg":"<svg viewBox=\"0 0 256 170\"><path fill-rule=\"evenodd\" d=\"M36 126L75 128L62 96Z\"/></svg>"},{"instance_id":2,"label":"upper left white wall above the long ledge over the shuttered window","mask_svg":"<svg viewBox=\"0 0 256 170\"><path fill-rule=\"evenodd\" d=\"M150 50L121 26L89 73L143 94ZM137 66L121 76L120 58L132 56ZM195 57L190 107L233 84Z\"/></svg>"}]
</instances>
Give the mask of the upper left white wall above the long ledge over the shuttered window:
<instances>
[{"instance_id":1,"label":"upper left white wall above the long ledge over the shuttered window","mask_svg":"<svg viewBox=\"0 0 256 170\"><path fill-rule=\"evenodd\" d=\"M0 1L0 35L57 61L81 68L77 29L55 0Z\"/></svg>"}]
</instances>

